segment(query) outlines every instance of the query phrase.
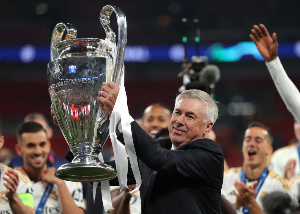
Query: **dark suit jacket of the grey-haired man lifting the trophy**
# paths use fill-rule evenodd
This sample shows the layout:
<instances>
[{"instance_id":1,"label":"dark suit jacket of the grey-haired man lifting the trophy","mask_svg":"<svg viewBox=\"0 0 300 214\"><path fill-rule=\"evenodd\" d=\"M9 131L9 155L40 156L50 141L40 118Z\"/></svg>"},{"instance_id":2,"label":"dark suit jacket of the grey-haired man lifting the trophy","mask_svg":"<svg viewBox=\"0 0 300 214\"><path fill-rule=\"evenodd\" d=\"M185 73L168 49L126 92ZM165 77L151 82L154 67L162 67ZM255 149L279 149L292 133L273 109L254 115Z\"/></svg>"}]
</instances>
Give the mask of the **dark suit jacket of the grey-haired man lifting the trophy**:
<instances>
[{"instance_id":1,"label":"dark suit jacket of the grey-haired man lifting the trophy","mask_svg":"<svg viewBox=\"0 0 300 214\"><path fill-rule=\"evenodd\" d=\"M217 143L198 139L168 150L163 147L171 145L169 138L153 140L135 121L131 128L142 177L142 213L220 213L224 159ZM122 141L122 134L118 138ZM118 179L110 183L118 185ZM128 184L133 183L129 168Z\"/></svg>"}]
</instances>

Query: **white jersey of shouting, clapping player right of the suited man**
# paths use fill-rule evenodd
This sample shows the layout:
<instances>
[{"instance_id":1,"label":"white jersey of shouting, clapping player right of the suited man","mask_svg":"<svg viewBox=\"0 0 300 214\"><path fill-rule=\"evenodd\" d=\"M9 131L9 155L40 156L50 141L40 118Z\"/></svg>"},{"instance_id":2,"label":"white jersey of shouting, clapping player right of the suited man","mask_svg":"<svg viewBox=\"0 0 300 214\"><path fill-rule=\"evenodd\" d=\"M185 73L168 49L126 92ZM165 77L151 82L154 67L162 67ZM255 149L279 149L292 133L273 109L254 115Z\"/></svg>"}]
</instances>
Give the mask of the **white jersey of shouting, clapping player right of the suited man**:
<instances>
[{"instance_id":1,"label":"white jersey of shouting, clapping player right of the suited man","mask_svg":"<svg viewBox=\"0 0 300 214\"><path fill-rule=\"evenodd\" d=\"M236 196L233 193L233 190L235 192L238 192L234 186L234 182L241 181L241 173L242 173L242 167L230 168L224 171L224 178L223 178L223 185L222 185L221 192L222 195L232 204L236 202ZM250 186L252 185L253 182L254 181L247 182L246 180L246 185ZM269 173L257 194L256 197L257 204L260 207L262 207L261 198L265 194L273 191L283 191L291 194L289 181L286 178L282 178L274 171L269 170ZM240 209L237 210L237 213L243 213L242 207L240 207Z\"/></svg>"}]
</instances>

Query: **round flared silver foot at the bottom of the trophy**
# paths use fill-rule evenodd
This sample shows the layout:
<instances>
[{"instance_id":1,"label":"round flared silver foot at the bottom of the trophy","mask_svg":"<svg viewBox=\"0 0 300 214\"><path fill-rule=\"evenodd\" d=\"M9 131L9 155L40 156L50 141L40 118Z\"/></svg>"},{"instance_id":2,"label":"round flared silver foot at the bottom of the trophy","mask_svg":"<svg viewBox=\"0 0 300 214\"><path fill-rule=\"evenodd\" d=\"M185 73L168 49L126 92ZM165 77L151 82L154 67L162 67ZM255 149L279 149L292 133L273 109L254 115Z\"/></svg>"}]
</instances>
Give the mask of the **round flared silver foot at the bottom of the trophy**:
<instances>
[{"instance_id":1,"label":"round flared silver foot at the bottom of the trophy","mask_svg":"<svg viewBox=\"0 0 300 214\"><path fill-rule=\"evenodd\" d=\"M116 170L101 163L66 163L54 173L55 177L74 182L97 182L113 179L117 176Z\"/></svg>"}]
</instances>

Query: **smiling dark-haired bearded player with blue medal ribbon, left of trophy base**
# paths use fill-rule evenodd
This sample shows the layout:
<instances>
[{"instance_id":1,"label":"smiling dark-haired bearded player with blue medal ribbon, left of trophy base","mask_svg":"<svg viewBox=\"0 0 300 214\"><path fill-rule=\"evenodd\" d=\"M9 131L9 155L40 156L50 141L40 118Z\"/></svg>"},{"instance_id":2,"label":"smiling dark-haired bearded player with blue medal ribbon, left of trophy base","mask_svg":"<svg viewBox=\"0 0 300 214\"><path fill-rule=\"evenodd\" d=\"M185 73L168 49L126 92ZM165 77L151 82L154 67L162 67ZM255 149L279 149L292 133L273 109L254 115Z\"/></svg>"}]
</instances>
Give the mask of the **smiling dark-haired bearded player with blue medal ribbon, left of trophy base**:
<instances>
[{"instance_id":1,"label":"smiling dark-haired bearded player with blue medal ribbon, left of trophy base","mask_svg":"<svg viewBox=\"0 0 300 214\"><path fill-rule=\"evenodd\" d=\"M47 168L50 141L41 124L27 122L17 130L16 152L23 157L23 172L34 182L33 202L36 213L83 214L82 184L58 179L55 168Z\"/></svg>"}]
</instances>

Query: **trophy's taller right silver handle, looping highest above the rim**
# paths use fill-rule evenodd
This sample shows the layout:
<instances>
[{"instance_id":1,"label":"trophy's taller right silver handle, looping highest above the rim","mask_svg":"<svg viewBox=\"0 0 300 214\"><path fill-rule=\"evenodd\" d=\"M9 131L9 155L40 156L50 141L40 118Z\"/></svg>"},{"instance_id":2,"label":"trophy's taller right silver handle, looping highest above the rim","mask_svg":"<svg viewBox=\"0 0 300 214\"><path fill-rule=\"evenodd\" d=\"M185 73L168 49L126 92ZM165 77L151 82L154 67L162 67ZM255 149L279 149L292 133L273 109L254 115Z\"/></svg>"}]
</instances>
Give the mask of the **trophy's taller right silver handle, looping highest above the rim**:
<instances>
[{"instance_id":1,"label":"trophy's taller right silver handle, looping highest above the rim","mask_svg":"<svg viewBox=\"0 0 300 214\"><path fill-rule=\"evenodd\" d=\"M103 9L100 12L100 22L105 30L106 38L109 39L113 44L115 44L116 34L113 32L112 28L109 25L109 18L113 12L116 13L118 22L118 50L112 81L116 83L116 85L120 85L120 77L124 65L125 49L127 42L126 16L121 8L107 5L103 7Z\"/></svg>"}]
</instances>

